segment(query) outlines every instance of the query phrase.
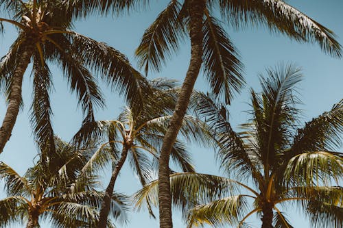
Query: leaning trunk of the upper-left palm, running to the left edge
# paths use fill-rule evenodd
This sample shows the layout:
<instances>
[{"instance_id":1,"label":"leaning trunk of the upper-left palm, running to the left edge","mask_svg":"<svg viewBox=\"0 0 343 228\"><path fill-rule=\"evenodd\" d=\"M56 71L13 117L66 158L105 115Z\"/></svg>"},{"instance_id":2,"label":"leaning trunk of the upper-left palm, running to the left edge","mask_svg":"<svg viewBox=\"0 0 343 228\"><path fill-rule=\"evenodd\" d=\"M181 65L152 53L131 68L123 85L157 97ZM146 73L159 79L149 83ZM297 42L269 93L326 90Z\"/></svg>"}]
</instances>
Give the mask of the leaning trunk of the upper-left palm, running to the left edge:
<instances>
[{"instance_id":1,"label":"leaning trunk of the upper-left palm, running to the left edge","mask_svg":"<svg viewBox=\"0 0 343 228\"><path fill-rule=\"evenodd\" d=\"M21 52L21 57L17 59L16 69L12 76L12 84L10 88L10 95L8 97L8 107L3 118L3 123L0 127L0 153L2 153L6 142L10 139L14 123L16 123L16 116L19 113L21 103L21 85L23 83L23 75L29 64L34 47L27 45Z\"/></svg>"}]
</instances>

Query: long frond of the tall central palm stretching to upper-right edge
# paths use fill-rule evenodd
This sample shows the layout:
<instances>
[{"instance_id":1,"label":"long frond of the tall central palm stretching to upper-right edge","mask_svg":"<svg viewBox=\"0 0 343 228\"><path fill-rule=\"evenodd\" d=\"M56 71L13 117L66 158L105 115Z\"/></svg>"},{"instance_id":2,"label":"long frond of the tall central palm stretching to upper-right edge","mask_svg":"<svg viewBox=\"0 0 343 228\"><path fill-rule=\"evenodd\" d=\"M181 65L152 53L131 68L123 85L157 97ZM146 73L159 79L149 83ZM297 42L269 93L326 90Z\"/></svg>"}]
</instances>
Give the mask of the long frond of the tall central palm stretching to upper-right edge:
<instances>
[{"instance_id":1,"label":"long frond of the tall central palm stretching to upper-right edge","mask_svg":"<svg viewBox=\"0 0 343 228\"><path fill-rule=\"evenodd\" d=\"M335 34L291 5L279 0L220 0L224 17L234 27L266 25L271 31L299 41L318 42L323 51L340 57L342 47Z\"/></svg>"}]
</instances>

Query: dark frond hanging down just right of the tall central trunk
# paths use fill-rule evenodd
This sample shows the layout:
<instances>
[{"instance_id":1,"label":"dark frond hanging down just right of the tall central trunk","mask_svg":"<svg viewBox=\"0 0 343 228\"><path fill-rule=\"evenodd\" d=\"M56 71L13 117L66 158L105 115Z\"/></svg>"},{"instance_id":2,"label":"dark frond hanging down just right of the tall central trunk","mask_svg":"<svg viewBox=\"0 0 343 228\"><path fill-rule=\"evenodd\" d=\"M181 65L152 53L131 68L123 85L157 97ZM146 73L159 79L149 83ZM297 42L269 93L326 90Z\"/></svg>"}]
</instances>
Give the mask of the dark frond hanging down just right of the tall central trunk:
<instances>
[{"instance_id":1,"label":"dark frond hanging down just right of the tall central trunk","mask_svg":"<svg viewBox=\"0 0 343 228\"><path fill-rule=\"evenodd\" d=\"M204 71L213 94L229 104L235 92L240 92L245 81L243 64L228 35L209 12L204 21Z\"/></svg>"}]
</instances>

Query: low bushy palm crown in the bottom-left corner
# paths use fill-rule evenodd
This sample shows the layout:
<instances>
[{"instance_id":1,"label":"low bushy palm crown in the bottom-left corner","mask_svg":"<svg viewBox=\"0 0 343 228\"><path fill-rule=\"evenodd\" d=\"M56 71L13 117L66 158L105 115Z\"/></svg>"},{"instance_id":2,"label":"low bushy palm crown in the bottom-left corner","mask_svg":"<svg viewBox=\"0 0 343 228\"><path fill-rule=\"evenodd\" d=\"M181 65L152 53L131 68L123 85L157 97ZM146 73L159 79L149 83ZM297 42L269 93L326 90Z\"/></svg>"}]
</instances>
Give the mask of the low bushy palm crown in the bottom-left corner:
<instances>
[{"instance_id":1,"label":"low bushy palm crown in the bottom-left corner","mask_svg":"<svg viewBox=\"0 0 343 228\"><path fill-rule=\"evenodd\" d=\"M0 227L27 219L27 228L39 227L40 219L49 219L54 227L95 227L97 206L104 193L94 187L94 175L78 175L93 149L75 151L74 147L55 138L56 153L45 162L40 159L21 176L0 162L0 177L5 181L8 197L0 200ZM111 211L125 219L126 199L116 194ZM109 222L108 227L113 227Z\"/></svg>"}]
</instances>

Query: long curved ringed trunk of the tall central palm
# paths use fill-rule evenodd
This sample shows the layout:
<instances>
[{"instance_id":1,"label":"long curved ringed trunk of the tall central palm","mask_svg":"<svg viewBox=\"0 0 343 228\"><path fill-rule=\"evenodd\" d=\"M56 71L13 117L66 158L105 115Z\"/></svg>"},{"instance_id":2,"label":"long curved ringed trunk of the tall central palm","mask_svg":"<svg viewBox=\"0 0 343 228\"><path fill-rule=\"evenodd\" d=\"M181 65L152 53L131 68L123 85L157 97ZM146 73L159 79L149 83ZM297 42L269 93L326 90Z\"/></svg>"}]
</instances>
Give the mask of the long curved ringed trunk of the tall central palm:
<instances>
[{"instance_id":1,"label":"long curved ringed trunk of the tall central palm","mask_svg":"<svg viewBox=\"0 0 343 228\"><path fill-rule=\"evenodd\" d=\"M182 84L174 114L171 117L165 138L163 139L158 164L158 204L161 228L173 227L171 219L169 155L171 148L176 141L176 137L178 136L178 131L182 125L183 118L185 117L189 99L191 98L191 93L202 64L202 18L204 15L204 8L205 3L202 0L189 1L191 61L189 63L187 75Z\"/></svg>"}]
</instances>

